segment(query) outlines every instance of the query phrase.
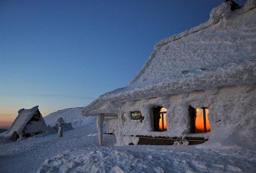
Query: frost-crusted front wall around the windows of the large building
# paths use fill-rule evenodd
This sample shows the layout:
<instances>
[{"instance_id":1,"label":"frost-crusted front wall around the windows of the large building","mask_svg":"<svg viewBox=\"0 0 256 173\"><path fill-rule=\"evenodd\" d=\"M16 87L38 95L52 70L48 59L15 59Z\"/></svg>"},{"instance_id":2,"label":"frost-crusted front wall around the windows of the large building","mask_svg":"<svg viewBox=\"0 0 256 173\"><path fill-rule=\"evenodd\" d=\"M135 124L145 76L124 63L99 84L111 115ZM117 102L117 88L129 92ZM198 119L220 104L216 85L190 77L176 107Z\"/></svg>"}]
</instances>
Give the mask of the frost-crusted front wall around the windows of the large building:
<instances>
[{"instance_id":1,"label":"frost-crusted front wall around the windows of the large building","mask_svg":"<svg viewBox=\"0 0 256 173\"><path fill-rule=\"evenodd\" d=\"M117 137L131 135L147 136L191 136L189 105L194 108L209 108L211 129L229 127L238 123L238 133L247 143L256 145L256 85L228 86L197 90L191 93L181 93L165 97L156 97L136 101L133 104L125 103L122 112L126 112L127 120L121 119L121 130ZM167 131L154 131L153 107L167 108ZM141 111L145 119L132 120L131 111ZM211 133L194 134L193 136L210 137ZM126 137L127 138L127 137ZM129 139L127 139L129 141ZM131 141L125 143L130 143ZM118 141L122 141L118 139ZM119 142L119 144L123 144Z\"/></svg>"}]
</instances>

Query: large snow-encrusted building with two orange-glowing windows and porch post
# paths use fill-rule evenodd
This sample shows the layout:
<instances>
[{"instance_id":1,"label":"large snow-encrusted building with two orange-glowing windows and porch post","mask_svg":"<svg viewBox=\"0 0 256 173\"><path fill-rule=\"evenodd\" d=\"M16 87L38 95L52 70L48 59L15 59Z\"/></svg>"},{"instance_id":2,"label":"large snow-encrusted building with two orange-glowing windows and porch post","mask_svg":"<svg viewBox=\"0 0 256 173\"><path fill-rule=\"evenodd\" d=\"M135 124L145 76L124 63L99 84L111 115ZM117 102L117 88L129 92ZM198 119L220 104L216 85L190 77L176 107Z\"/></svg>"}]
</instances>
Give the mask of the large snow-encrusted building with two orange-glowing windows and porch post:
<instances>
[{"instance_id":1,"label":"large snow-encrusted building with two orange-glowing windows and porch post","mask_svg":"<svg viewBox=\"0 0 256 173\"><path fill-rule=\"evenodd\" d=\"M97 117L100 145L104 119L116 117L117 145L218 136L223 143L236 134L236 143L255 146L255 86L256 1L234 11L226 2L205 23L158 42L128 86L101 95L82 114Z\"/></svg>"}]
</instances>

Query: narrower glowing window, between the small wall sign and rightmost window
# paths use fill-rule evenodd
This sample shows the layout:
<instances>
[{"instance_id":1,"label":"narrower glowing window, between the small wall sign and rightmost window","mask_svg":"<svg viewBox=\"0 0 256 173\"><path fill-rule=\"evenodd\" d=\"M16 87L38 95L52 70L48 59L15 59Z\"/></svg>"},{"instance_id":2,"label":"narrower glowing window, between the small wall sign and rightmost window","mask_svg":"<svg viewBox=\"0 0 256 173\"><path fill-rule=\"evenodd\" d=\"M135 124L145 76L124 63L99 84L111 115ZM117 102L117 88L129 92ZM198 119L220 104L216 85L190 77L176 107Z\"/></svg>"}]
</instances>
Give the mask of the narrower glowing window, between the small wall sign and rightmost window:
<instances>
[{"instance_id":1,"label":"narrower glowing window, between the small wall sign and rightmost window","mask_svg":"<svg viewBox=\"0 0 256 173\"><path fill-rule=\"evenodd\" d=\"M166 131L166 113L167 109L161 106L153 108L154 112L154 130L155 131Z\"/></svg>"}]
</instances>

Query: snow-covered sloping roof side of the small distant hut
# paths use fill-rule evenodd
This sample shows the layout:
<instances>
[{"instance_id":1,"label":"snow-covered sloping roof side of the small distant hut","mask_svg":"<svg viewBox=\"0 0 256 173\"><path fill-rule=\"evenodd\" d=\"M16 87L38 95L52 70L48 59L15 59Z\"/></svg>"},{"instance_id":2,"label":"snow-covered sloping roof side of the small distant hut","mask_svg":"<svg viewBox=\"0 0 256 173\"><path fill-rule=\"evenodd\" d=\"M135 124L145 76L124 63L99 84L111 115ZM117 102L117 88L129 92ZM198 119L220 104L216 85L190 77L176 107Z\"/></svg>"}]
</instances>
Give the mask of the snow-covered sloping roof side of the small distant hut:
<instances>
[{"instance_id":1,"label":"snow-covered sloping roof side of the small distant hut","mask_svg":"<svg viewBox=\"0 0 256 173\"><path fill-rule=\"evenodd\" d=\"M12 135L14 131L17 131L17 134L22 134L23 129L27 125L28 121L39 111L38 106L35 106L31 109L21 109L18 111L17 118L13 121L12 126L7 131L6 136Z\"/></svg>"}]
</instances>

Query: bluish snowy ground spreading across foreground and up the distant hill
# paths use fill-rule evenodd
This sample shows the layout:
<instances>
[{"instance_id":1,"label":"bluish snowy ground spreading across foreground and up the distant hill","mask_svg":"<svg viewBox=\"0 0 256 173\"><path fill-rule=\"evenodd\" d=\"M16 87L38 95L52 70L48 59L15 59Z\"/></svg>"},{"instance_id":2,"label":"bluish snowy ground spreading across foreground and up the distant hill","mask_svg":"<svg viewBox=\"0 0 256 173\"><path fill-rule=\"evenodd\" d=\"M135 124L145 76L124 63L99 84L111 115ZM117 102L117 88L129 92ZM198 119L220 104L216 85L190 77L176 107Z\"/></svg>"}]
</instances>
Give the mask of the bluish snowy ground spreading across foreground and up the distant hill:
<instances>
[{"instance_id":1,"label":"bluish snowy ground spreading across foreground and up the distant hill","mask_svg":"<svg viewBox=\"0 0 256 173\"><path fill-rule=\"evenodd\" d=\"M256 151L237 146L114 146L115 136L104 135L100 147L94 117L80 112L66 109L45 117L47 125L60 116L73 124L62 138L1 142L0 172L256 172Z\"/></svg>"}]
</instances>

